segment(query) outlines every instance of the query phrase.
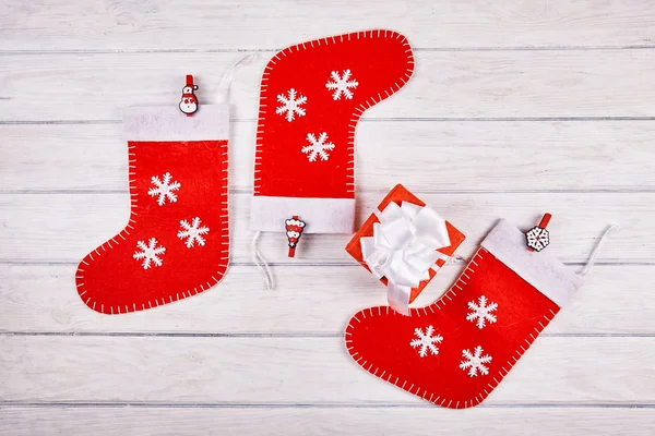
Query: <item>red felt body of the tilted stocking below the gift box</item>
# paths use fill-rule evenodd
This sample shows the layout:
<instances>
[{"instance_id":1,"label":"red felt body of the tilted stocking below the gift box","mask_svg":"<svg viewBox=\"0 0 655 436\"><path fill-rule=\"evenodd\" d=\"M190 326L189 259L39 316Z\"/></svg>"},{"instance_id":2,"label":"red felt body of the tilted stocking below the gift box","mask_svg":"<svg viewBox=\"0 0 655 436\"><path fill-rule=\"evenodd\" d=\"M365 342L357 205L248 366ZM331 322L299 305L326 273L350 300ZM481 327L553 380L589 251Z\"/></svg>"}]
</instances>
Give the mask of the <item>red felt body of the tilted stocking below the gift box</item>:
<instances>
[{"instance_id":1,"label":"red felt body of the tilted stocking below the gift box","mask_svg":"<svg viewBox=\"0 0 655 436\"><path fill-rule=\"evenodd\" d=\"M486 322L483 328L477 318L467 320L469 302L486 306L497 303L490 311L496 323ZM463 409L480 403L498 386L516 361L548 325L559 307L533 288L512 269L480 247L455 284L429 306L412 308L403 316L388 306L365 308L357 313L346 328L346 347L353 359L369 373L409 391L427 401L446 408ZM431 337L440 335L438 354L426 349L420 356L419 339L415 329L425 335L429 327ZM491 360L484 365L488 374L479 371L471 376L471 368L460 365L475 355Z\"/></svg>"}]
</instances>

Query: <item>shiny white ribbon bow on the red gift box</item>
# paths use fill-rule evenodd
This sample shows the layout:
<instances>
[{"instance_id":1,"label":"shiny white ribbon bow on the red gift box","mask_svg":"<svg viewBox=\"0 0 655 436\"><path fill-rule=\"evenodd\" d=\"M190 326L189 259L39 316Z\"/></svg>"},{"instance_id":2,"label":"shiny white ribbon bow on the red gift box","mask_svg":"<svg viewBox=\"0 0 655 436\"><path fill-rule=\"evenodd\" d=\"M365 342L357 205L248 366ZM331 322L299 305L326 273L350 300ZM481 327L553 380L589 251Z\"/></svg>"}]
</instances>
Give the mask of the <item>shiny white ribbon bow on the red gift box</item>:
<instances>
[{"instance_id":1,"label":"shiny white ribbon bow on the red gift box","mask_svg":"<svg viewBox=\"0 0 655 436\"><path fill-rule=\"evenodd\" d=\"M437 250L450 246L445 220L427 206L391 202L376 211L380 222L373 235L361 238L361 254L377 278L389 280L386 300L395 311L409 314L412 288L430 278L437 259L449 256Z\"/></svg>"}]
</instances>

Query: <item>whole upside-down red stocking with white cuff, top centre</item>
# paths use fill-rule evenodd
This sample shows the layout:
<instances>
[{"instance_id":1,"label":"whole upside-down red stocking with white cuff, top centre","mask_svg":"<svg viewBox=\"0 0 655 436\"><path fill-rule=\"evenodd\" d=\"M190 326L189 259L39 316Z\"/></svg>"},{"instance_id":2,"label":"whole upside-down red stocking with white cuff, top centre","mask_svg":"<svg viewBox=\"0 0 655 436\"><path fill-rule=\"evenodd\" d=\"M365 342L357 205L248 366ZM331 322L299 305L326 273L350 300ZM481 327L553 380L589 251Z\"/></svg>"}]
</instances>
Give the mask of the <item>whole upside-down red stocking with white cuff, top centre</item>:
<instances>
[{"instance_id":1,"label":"whole upside-down red stocking with white cuff, top centre","mask_svg":"<svg viewBox=\"0 0 655 436\"><path fill-rule=\"evenodd\" d=\"M371 106L400 90L414 71L407 39L369 31L285 48L265 66L250 223L306 233L352 233L355 130Z\"/></svg>"}]
</instances>

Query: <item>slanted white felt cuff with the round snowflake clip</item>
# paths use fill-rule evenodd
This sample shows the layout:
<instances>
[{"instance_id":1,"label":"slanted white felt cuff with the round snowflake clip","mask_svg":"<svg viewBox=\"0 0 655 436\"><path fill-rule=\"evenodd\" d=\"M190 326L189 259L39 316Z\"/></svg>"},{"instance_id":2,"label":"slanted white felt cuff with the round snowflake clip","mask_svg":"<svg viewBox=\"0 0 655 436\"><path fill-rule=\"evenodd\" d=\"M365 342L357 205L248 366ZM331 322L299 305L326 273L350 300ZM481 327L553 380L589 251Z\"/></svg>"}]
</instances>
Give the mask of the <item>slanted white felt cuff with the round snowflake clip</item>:
<instances>
[{"instance_id":1,"label":"slanted white felt cuff with the round snowflake clip","mask_svg":"<svg viewBox=\"0 0 655 436\"><path fill-rule=\"evenodd\" d=\"M531 252L525 233L501 219L481 245L558 306L567 304L583 283L564 264L543 252Z\"/></svg>"}]
</instances>

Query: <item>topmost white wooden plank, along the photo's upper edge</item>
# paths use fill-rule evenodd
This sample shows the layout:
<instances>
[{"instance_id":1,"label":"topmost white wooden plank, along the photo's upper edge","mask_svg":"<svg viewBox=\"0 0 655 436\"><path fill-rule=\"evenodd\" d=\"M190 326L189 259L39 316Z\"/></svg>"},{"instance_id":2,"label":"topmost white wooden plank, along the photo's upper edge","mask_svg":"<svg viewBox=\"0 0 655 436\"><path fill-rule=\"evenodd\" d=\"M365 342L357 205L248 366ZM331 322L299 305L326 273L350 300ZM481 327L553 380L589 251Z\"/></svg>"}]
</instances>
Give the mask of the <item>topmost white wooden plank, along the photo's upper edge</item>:
<instances>
[{"instance_id":1,"label":"topmost white wooden plank, along the photo's upper edge","mask_svg":"<svg viewBox=\"0 0 655 436\"><path fill-rule=\"evenodd\" d=\"M378 27L407 32L417 47L623 47L653 44L651 5L645 0L8 0L0 50L273 49Z\"/></svg>"}]
</instances>

